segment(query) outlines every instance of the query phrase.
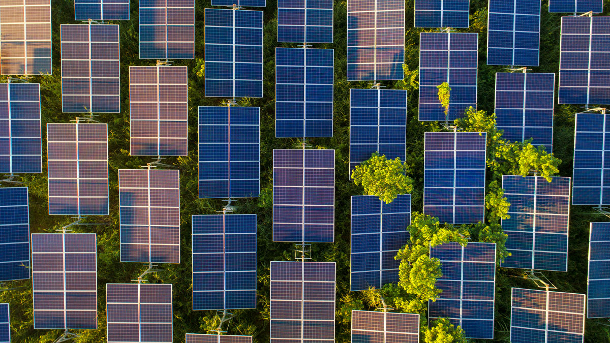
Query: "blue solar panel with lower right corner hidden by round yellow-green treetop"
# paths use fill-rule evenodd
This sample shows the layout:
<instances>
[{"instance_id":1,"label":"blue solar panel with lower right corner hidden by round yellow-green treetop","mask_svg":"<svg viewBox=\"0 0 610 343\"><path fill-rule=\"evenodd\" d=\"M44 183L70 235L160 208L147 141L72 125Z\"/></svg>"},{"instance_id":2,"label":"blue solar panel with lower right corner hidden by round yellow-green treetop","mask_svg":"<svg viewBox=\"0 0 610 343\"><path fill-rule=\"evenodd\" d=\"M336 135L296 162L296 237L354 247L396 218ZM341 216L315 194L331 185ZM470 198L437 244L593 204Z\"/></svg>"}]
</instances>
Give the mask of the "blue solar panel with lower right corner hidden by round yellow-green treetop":
<instances>
[{"instance_id":1,"label":"blue solar panel with lower right corner hidden by round yellow-green treetop","mask_svg":"<svg viewBox=\"0 0 610 343\"><path fill-rule=\"evenodd\" d=\"M406 159L407 91L350 89L350 179L373 153Z\"/></svg>"}]
</instances>

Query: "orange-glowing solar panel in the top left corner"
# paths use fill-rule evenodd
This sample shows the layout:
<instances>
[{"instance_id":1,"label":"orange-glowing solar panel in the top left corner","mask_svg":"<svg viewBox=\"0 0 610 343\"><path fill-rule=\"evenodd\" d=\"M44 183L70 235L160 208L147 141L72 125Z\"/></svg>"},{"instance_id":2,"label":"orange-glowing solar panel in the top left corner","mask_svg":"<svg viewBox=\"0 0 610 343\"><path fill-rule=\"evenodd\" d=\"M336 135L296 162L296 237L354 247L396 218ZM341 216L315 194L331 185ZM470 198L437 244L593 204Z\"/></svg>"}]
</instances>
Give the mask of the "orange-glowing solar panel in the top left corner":
<instances>
[{"instance_id":1,"label":"orange-glowing solar panel in the top left corner","mask_svg":"<svg viewBox=\"0 0 610 343\"><path fill-rule=\"evenodd\" d=\"M2 75L51 74L51 0L0 1Z\"/></svg>"}]
</instances>

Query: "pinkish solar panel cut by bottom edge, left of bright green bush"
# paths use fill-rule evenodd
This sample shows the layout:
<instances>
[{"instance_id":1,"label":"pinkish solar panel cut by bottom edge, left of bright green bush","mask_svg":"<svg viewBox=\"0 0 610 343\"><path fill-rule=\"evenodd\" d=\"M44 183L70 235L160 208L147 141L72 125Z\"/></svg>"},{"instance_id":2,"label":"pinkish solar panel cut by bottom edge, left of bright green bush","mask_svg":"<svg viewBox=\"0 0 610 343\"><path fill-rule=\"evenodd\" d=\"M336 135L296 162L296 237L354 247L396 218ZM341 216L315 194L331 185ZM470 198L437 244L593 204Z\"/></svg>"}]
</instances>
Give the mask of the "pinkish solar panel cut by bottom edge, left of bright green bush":
<instances>
[{"instance_id":1,"label":"pinkish solar panel cut by bottom edge, left of bright green bush","mask_svg":"<svg viewBox=\"0 0 610 343\"><path fill-rule=\"evenodd\" d=\"M351 310L352 343L418 343L419 314Z\"/></svg>"}]
</instances>

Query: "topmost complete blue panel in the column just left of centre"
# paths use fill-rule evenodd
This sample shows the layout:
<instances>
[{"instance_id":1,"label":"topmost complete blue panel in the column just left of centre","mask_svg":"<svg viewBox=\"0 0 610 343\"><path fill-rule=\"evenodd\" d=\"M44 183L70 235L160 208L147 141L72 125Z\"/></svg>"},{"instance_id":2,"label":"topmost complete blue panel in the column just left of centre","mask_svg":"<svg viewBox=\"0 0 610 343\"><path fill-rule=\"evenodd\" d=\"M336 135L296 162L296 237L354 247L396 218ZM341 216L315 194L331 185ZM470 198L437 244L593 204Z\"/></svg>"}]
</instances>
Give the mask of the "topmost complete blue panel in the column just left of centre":
<instances>
[{"instance_id":1,"label":"topmost complete blue panel in the column just left of centre","mask_svg":"<svg viewBox=\"0 0 610 343\"><path fill-rule=\"evenodd\" d=\"M206 96L263 96L263 12L206 9Z\"/></svg>"}]
</instances>

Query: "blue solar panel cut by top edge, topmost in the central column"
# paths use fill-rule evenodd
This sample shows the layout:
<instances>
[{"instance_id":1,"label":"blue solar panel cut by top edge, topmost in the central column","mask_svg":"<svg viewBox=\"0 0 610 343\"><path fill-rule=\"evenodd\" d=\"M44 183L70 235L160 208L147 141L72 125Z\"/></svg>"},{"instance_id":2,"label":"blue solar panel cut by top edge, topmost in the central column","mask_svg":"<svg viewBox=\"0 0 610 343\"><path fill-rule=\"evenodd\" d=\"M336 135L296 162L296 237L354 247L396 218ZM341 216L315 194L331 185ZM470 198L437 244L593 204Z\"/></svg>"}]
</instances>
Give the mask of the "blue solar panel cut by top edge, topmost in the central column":
<instances>
[{"instance_id":1,"label":"blue solar panel cut by top edge, topmost in the central column","mask_svg":"<svg viewBox=\"0 0 610 343\"><path fill-rule=\"evenodd\" d=\"M278 42L332 43L332 0L279 0Z\"/></svg>"}]
</instances>

